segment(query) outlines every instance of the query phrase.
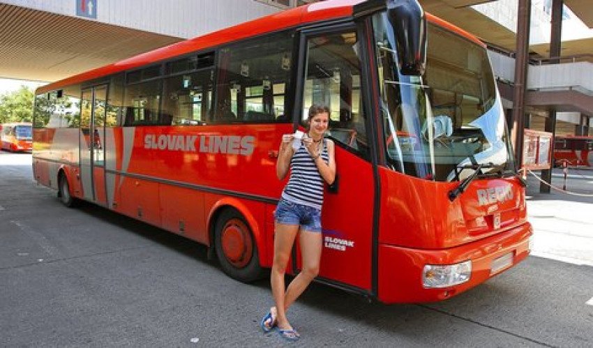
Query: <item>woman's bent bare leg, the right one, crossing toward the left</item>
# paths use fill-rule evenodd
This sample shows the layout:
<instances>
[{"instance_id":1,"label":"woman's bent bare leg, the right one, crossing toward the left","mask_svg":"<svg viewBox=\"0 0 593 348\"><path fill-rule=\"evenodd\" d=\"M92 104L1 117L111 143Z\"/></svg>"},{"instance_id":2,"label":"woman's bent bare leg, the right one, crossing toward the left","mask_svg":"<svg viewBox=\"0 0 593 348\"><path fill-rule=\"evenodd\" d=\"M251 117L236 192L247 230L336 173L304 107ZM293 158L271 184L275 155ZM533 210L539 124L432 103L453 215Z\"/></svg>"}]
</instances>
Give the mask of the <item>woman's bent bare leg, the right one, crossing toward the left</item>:
<instances>
[{"instance_id":1,"label":"woman's bent bare leg, the right one, crossing toward the left","mask_svg":"<svg viewBox=\"0 0 593 348\"><path fill-rule=\"evenodd\" d=\"M323 245L321 232L301 230L299 242L301 243L302 269L301 273L296 275L288 285L284 298L285 311L294 303L296 298L301 296L313 278L317 277L317 273L319 273Z\"/></svg>"}]
</instances>

